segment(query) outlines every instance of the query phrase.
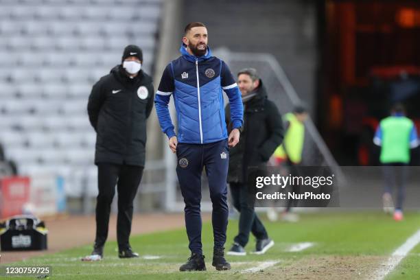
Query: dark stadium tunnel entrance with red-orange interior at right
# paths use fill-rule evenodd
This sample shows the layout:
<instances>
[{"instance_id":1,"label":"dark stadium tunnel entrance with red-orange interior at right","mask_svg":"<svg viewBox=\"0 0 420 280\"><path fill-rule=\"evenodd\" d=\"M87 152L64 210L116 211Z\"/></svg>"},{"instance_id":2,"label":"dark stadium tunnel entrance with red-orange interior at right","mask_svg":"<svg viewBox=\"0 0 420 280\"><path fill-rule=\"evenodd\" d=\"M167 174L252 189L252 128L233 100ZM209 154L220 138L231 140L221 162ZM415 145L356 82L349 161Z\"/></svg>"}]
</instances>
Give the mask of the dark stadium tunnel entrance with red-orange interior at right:
<instances>
[{"instance_id":1,"label":"dark stadium tunnel entrance with red-orange interior at right","mask_svg":"<svg viewBox=\"0 0 420 280\"><path fill-rule=\"evenodd\" d=\"M420 3L323 1L318 27L318 128L340 165L378 165L372 139L392 104L420 128Z\"/></svg>"}]
</instances>

